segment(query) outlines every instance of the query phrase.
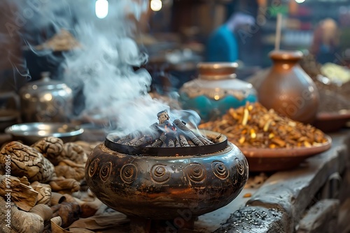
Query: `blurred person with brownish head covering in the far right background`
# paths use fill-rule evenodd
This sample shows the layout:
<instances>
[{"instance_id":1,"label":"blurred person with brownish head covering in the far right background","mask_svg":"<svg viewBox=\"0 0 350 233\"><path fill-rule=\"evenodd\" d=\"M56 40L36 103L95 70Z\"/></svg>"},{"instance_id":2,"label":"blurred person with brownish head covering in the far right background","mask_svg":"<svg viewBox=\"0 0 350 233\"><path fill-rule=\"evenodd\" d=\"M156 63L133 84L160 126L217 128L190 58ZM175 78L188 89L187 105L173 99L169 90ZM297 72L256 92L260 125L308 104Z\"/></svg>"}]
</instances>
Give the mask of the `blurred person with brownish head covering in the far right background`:
<instances>
[{"instance_id":1,"label":"blurred person with brownish head covering in the far right background","mask_svg":"<svg viewBox=\"0 0 350 233\"><path fill-rule=\"evenodd\" d=\"M339 52L339 29L337 22L330 18L319 22L314 30L314 38L311 43L310 53L314 55L318 63L334 63Z\"/></svg>"}]
</instances>

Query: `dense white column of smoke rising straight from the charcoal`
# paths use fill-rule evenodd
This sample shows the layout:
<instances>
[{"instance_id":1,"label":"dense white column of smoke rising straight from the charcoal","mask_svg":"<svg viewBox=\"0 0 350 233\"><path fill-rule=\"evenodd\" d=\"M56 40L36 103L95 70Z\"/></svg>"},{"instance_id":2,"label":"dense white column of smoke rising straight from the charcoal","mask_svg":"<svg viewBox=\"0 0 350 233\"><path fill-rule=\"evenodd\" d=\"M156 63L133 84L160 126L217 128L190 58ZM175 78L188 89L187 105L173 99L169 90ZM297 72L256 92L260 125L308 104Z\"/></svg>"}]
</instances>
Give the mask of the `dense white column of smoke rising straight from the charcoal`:
<instances>
[{"instance_id":1,"label":"dense white column of smoke rising straight from the charcoal","mask_svg":"<svg viewBox=\"0 0 350 233\"><path fill-rule=\"evenodd\" d=\"M148 95L151 75L139 68L148 56L133 40L135 25L130 17L139 20L147 2L110 1L110 14L104 20L93 11L83 13L76 26L83 49L66 54L66 82L83 87L81 115L92 116L93 121L102 118L110 129L117 126L118 131L131 132L154 123L157 112L169 110Z\"/></svg>"}]
</instances>

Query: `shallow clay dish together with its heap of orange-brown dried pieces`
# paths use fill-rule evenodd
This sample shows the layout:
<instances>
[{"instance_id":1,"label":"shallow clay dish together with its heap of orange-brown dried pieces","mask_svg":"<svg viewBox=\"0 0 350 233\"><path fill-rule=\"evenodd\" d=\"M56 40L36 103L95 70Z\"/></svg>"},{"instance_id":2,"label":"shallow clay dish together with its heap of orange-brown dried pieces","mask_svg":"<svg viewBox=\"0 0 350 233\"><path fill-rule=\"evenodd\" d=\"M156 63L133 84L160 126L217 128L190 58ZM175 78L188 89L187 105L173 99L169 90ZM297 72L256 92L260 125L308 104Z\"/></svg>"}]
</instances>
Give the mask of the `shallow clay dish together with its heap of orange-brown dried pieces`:
<instances>
[{"instance_id":1,"label":"shallow clay dish together with its heap of orange-brown dried pieces","mask_svg":"<svg viewBox=\"0 0 350 233\"><path fill-rule=\"evenodd\" d=\"M225 134L244 153L251 172L288 170L332 144L318 128L283 117L260 103L230 109L221 119L199 128Z\"/></svg>"}]
</instances>

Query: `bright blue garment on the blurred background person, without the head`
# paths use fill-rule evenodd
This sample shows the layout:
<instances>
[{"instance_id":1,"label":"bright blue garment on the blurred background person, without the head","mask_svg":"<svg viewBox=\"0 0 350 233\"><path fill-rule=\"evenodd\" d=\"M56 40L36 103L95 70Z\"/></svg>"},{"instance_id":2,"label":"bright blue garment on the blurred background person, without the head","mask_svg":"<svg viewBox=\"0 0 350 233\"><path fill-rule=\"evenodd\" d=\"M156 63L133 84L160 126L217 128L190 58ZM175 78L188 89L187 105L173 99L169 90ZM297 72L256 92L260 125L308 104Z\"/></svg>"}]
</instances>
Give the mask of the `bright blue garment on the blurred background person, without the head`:
<instances>
[{"instance_id":1,"label":"bright blue garment on the blurred background person, without the head","mask_svg":"<svg viewBox=\"0 0 350 233\"><path fill-rule=\"evenodd\" d=\"M237 59L237 40L234 33L224 24L209 36L207 61L234 62Z\"/></svg>"}]
</instances>

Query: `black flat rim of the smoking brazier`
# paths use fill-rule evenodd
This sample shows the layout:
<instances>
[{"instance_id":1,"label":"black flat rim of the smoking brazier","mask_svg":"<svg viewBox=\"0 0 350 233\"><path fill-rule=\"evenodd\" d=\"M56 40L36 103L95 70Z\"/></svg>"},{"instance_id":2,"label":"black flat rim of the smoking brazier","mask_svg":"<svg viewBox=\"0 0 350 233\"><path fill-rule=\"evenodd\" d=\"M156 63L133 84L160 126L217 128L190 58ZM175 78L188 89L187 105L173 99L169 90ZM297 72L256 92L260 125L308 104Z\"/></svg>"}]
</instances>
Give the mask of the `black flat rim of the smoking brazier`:
<instances>
[{"instance_id":1,"label":"black flat rim of the smoking brazier","mask_svg":"<svg viewBox=\"0 0 350 233\"><path fill-rule=\"evenodd\" d=\"M204 132L204 135L207 135L209 140L212 140L214 144L188 147L129 146L116 143L113 141L111 135L107 135L104 145L112 151L134 156L200 156L202 154L223 151L228 146L228 138L225 135L208 130L201 130L201 132Z\"/></svg>"}]
</instances>

